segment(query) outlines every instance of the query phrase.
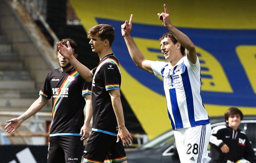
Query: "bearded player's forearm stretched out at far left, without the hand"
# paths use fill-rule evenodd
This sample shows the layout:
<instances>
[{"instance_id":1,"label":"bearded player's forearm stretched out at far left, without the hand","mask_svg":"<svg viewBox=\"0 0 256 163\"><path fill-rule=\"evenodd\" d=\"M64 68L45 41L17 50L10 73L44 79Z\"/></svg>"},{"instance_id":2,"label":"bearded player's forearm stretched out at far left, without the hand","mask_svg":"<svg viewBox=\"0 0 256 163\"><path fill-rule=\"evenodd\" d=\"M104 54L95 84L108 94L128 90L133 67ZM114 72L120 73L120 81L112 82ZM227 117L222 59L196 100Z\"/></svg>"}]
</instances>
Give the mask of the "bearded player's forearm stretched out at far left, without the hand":
<instances>
[{"instance_id":1,"label":"bearded player's forearm stretched out at far left, without the hand","mask_svg":"<svg viewBox=\"0 0 256 163\"><path fill-rule=\"evenodd\" d=\"M18 117L18 119L25 121L29 117L36 114L39 110L41 110L47 103L47 99L44 99L43 97L39 97L30 107L27 111L25 111L22 115Z\"/></svg>"}]
</instances>

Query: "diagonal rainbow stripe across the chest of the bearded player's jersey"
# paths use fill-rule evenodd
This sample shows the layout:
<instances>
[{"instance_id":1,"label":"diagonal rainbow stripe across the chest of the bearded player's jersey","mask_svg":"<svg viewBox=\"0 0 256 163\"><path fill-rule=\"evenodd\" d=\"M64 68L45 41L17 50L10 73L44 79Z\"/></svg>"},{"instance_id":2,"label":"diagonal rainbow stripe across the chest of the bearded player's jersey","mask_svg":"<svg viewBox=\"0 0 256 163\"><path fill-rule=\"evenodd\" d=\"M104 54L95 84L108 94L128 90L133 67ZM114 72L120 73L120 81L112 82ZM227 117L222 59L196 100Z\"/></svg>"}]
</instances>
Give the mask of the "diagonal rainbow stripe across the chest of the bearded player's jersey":
<instances>
[{"instance_id":1,"label":"diagonal rainbow stripe across the chest of the bearded player's jersey","mask_svg":"<svg viewBox=\"0 0 256 163\"><path fill-rule=\"evenodd\" d=\"M52 123L51 123L51 126L52 126L52 124L54 122L55 113L56 113L56 111L57 111L57 109L58 109L58 107L59 107L59 105L60 105L60 103L61 103L61 101L63 99L63 97L60 96L61 89L62 88L68 88L75 81L75 79L73 81L71 81L71 82L68 81L67 79L68 79L69 76L76 78L78 75L79 75L78 72L76 70L73 70L71 73L69 73L69 75L65 78L64 82L60 86L59 94L58 94L58 96L56 98L54 98L54 102L53 102L53 112L52 112Z\"/></svg>"}]
</instances>

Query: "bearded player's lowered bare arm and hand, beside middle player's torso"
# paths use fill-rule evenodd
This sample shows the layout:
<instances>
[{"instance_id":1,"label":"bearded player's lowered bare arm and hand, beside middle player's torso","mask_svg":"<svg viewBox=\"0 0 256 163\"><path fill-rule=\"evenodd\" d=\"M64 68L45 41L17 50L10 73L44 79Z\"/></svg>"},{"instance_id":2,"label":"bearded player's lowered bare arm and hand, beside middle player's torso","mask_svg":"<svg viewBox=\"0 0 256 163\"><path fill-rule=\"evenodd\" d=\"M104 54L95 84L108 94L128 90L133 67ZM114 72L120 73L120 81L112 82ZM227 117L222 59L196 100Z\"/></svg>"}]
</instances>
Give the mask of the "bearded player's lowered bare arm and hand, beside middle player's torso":
<instances>
[{"instance_id":1,"label":"bearded player's lowered bare arm and hand, beside middle player's torso","mask_svg":"<svg viewBox=\"0 0 256 163\"><path fill-rule=\"evenodd\" d=\"M84 119L84 124L81 128L80 134L83 135L81 137L81 140L87 139L90 134L89 134L89 126L90 126L90 121L92 117L92 105L91 105L91 95L90 94L85 94L84 99L86 102L85 105L85 119Z\"/></svg>"}]
</instances>

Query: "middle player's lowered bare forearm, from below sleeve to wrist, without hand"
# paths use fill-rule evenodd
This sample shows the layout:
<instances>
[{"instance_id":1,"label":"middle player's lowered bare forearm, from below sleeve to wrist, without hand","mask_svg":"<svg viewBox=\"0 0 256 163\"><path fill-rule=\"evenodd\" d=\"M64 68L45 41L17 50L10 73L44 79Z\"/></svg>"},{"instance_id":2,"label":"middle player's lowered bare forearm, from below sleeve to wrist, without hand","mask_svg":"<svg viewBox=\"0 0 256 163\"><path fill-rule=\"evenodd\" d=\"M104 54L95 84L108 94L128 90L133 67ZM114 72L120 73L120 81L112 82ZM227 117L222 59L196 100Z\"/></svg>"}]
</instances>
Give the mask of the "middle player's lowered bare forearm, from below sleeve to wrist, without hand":
<instances>
[{"instance_id":1,"label":"middle player's lowered bare forearm, from below sleeve to wrist, without hand","mask_svg":"<svg viewBox=\"0 0 256 163\"><path fill-rule=\"evenodd\" d=\"M118 128L125 127L124 113L123 113L123 107L122 107L120 96L111 97L111 101L112 101L112 106L116 115Z\"/></svg>"}]
</instances>

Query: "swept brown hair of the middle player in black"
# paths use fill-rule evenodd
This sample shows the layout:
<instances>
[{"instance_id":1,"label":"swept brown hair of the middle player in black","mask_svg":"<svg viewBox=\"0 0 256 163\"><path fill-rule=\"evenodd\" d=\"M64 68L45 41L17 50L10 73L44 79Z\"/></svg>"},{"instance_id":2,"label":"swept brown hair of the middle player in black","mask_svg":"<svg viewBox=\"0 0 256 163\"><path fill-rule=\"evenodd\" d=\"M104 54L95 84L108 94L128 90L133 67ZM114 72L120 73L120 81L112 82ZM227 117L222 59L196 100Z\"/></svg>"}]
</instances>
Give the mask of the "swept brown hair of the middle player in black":
<instances>
[{"instance_id":1,"label":"swept brown hair of the middle player in black","mask_svg":"<svg viewBox=\"0 0 256 163\"><path fill-rule=\"evenodd\" d=\"M115 30L112 26L107 24L99 24L97 26L93 26L88 30L87 38L91 38L93 35L95 35L97 32L99 32L99 37L102 40L108 40L109 46L112 46L112 43L115 39Z\"/></svg>"}]
</instances>

